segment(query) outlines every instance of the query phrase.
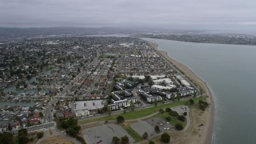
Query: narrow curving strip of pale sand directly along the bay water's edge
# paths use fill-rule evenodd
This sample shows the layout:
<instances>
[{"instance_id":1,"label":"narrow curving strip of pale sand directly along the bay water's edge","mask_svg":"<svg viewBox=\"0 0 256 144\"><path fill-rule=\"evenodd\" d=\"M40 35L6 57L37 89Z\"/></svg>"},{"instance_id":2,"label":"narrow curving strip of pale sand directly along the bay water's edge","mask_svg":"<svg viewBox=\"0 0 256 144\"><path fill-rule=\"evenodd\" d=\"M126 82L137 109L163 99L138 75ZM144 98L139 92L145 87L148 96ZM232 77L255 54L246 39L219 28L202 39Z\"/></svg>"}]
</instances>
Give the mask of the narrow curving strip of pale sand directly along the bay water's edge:
<instances>
[{"instance_id":1,"label":"narrow curving strip of pale sand directly along the bay water's edge","mask_svg":"<svg viewBox=\"0 0 256 144\"><path fill-rule=\"evenodd\" d=\"M173 64L178 68L178 70L181 70L187 77L189 77L192 82L196 83L199 87L204 90L204 93L208 96L207 101L210 102L209 107L209 113L206 116L206 125L202 131L202 137L200 138L200 142L202 144L205 143L211 143L212 142L212 135L213 135L213 124L214 124L214 114L215 114L215 106L214 106L214 98L210 92L210 88L207 85L206 82L202 81L201 78L198 77L197 74L194 74L190 68L183 65L182 63L179 63L175 59L171 58L166 51L158 50L158 45L156 43L148 42L151 47L154 48L154 50L158 51L159 54L162 55L163 58L166 58L168 62Z\"/></svg>"}]
</instances>

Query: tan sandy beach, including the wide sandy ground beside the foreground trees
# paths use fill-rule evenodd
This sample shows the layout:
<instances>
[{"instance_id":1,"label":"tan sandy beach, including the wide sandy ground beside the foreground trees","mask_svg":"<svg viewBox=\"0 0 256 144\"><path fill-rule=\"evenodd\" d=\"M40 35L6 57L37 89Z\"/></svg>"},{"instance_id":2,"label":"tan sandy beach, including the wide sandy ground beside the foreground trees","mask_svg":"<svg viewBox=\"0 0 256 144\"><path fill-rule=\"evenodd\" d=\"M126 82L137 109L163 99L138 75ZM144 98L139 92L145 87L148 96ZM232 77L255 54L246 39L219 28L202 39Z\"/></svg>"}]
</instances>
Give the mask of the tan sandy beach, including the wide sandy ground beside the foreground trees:
<instances>
[{"instance_id":1,"label":"tan sandy beach, including the wide sandy ground beside the foreground trees","mask_svg":"<svg viewBox=\"0 0 256 144\"><path fill-rule=\"evenodd\" d=\"M192 110L192 118L194 122L192 122L192 126L190 126L190 130L186 132L186 136L183 138L182 142L178 143L201 143L207 144L211 143L212 133L213 133L213 123L214 123L214 99L212 94L210 93L210 89L207 86L206 82L202 81L201 78L198 78L196 74L192 70L190 70L187 66L182 63L177 62L173 58L170 58L166 51L158 50L158 45L156 43L149 43L155 50L158 51L167 61L176 66L179 70L181 70L187 77L189 77L195 84L201 87L201 89L208 96L207 101L210 102L210 107L203 114L198 111ZM198 116L196 115L199 115ZM204 123L204 127L202 130L198 129L198 123Z\"/></svg>"}]
</instances>

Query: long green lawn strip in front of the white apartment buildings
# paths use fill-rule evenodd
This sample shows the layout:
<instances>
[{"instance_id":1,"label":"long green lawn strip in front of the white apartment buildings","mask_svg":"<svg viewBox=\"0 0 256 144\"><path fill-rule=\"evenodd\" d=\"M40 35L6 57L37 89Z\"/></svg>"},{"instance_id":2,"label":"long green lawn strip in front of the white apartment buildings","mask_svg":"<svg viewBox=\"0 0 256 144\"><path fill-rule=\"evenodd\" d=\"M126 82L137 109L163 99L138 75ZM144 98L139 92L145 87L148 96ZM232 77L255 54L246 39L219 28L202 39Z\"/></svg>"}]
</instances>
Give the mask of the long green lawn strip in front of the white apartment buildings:
<instances>
[{"instance_id":1,"label":"long green lawn strip in front of the white apartment buildings","mask_svg":"<svg viewBox=\"0 0 256 144\"><path fill-rule=\"evenodd\" d=\"M194 103L198 103L199 99L204 99L204 98L193 98L193 99L194 99ZM133 112L127 112L126 114L117 114L117 115L106 116L106 117L102 117L102 118L92 118L92 119L88 119L88 120L82 120L82 121L78 121L78 124L81 125L81 124L86 124L86 123L90 123L90 122L116 120L118 115L122 115L123 118L125 118L125 120L138 119L138 118L146 117L147 115L150 115L150 114L154 114L155 112L158 112L159 109L165 110L167 107L181 106L181 105L187 105L187 104L188 104L187 101L168 103L168 104L164 104L164 105L160 105L160 106L150 107L147 109L135 110Z\"/></svg>"}]
</instances>

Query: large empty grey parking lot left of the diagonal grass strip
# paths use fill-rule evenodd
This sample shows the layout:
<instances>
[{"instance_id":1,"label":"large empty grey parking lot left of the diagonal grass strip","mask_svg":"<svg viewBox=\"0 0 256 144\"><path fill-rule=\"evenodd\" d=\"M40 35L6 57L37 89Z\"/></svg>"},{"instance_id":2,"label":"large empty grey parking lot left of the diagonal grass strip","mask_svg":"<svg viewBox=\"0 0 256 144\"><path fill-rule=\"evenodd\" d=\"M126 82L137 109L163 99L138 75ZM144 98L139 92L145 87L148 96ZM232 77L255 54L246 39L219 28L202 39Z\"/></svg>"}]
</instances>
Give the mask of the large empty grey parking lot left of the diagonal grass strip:
<instances>
[{"instance_id":1,"label":"large empty grey parking lot left of the diagonal grass strip","mask_svg":"<svg viewBox=\"0 0 256 144\"><path fill-rule=\"evenodd\" d=\"M134 142L134 139L130 137L130 135L126 132L126 130L122 128L122 126L113 123L88 128L83 130L83 134L87 144L94 144L97 142L111 143L114 136L121 138L125 135L129 138L130 143Z\"/></svg>"}]
</instances>

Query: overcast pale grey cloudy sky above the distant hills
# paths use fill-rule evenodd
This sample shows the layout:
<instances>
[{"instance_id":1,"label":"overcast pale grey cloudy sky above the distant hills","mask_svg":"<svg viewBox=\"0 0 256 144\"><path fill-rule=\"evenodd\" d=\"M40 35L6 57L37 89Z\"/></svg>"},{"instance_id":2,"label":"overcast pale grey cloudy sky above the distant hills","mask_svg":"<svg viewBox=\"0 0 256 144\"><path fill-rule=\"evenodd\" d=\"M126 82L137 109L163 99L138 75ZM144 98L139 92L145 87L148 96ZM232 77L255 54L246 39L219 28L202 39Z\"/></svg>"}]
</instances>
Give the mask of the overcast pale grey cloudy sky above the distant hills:
<instances>
[{"instance_id":1,"label":"overcast pale grey cloudy sky above the distant hills","mask_svg":"<svg viewBox=\"0 0 256 144\"><path fill-rule=\"evenodd\" d=\"M0 26L256 29L256 0L0 0Z\"/></svg>"}]
</instances>

